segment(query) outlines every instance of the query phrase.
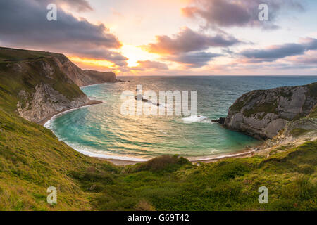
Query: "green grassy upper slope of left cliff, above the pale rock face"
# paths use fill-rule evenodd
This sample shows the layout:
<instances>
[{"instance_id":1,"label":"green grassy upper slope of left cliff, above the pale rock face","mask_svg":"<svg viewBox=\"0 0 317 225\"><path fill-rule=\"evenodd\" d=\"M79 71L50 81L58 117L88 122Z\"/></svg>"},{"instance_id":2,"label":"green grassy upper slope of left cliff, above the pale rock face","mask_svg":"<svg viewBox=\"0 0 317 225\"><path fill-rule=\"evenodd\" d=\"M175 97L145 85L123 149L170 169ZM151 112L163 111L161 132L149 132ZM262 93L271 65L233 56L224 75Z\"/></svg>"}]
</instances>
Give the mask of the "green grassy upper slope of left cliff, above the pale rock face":
<instances>
[{"instance_id":1,"label":"green grassy upper slope of left cliff, above the pale rock face","mask_svg":"<svg viewBox=\"0 0 317 225\"><path fill-rule=\"evenodd\" d=\"M47 63L47 65L56 64L52 56L63 55L42 51L0 48L1 109L15 110L20 91L24 90L27 94L32 94L35 91L35 86L41 83L49 84L70 100L85 95L57 65L54 66L54 72L51 75L45 75L41 72L45 66L44 63Z\"/></svg>"}]
</instances>

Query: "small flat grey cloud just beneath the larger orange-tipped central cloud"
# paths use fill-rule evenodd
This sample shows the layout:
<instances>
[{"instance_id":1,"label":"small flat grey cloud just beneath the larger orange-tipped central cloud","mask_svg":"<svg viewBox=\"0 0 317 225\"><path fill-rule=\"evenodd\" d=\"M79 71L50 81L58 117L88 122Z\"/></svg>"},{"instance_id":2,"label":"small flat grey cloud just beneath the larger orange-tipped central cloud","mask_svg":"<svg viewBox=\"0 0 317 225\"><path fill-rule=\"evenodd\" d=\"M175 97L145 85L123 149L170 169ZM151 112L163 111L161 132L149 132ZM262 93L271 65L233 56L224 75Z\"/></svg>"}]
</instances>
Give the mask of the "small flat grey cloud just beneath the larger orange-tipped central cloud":
<instances>
[{"instance_id":1,"label":"small flat grey cloud just beneath the larger orange-tipped central cloud","mask_svg":"<svg viewBox=\"0 0 317 225\"><path fill-rule=\"evenodd\" d=\"M176 56L170 56L167 59L177 63L185 64L187 67L190 68L201 68L204 65L207 65L210 60L218 56L221 55L200 51L194 53L180 53Z\"/></svg>"}]
</instances>

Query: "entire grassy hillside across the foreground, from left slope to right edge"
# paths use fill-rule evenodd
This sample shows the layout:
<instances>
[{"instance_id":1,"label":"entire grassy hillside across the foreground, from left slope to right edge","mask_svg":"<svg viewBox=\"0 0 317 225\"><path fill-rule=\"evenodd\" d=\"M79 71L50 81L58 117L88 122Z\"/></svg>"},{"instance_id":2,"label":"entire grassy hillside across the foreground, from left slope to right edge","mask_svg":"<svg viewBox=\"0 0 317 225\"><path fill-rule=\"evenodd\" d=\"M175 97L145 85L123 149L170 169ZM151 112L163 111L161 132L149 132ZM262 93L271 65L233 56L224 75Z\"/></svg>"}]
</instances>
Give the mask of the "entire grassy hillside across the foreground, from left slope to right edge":
<instances>
[{"instance_id":1,"label":"entire grassy hillside across the foreground, from left slope to right edge","mask_svg":"<svg viewBox=\"0 0 317 225\"><path fill-rule=\"evenodd\" d=\"M0 111L0 210L317 210L317 141L269 158L192 165L164 156L128 167L77 153ZM57 205L46 188L58 189ZM258 203L266 186L269 204Z\"/></svg>"}]
</instances>

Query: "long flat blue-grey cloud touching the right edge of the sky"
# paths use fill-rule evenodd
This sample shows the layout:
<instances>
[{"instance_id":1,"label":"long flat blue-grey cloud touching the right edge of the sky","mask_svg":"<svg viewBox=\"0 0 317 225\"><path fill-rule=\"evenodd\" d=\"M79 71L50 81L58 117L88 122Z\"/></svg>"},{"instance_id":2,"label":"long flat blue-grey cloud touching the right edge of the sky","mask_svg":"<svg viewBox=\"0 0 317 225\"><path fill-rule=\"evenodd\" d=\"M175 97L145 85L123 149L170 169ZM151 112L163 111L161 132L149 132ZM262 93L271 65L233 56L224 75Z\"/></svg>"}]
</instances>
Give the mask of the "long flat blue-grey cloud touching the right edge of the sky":
<instances>
[{"instance_id":1,"label":"long flat blue-grey cloud touching the right edge of the sky","mask_svg":"<svg viewBox=\"0 0 317 225\"><path fill-rule=\"evenodd\" d=\"M306 38L301 39L302 43L282 44L269 46L266 49L247 49L240 53L245 58L251 59L253 62L273 62L280 58L288 56L298 56L306 51L317 49L317 39Z\"/></svg>"}]
</instances>

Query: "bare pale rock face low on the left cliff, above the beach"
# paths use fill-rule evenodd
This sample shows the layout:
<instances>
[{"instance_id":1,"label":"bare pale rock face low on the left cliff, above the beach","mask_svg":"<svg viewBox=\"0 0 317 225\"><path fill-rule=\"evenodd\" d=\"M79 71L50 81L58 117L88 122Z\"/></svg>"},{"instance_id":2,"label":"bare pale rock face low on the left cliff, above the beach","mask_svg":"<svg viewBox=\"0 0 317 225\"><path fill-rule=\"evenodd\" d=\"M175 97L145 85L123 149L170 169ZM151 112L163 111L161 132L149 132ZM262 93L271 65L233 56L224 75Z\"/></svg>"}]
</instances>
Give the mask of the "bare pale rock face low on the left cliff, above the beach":
<instances>
[{"instance_id":1,"label":"bare pale rock face low on the left cliff, above the beach","mask_svg":"<svg viewBox=\"0 0 317 225\"><path fill-rule=\"evenodd\" d=\"M44 83L35 86L33 94L20 91L19 97L18 113L21 117L32 122L40 122L54 113L80 107L89 101L85 95L69 100L66 96Z\"/></svg>"}]
</instances>

